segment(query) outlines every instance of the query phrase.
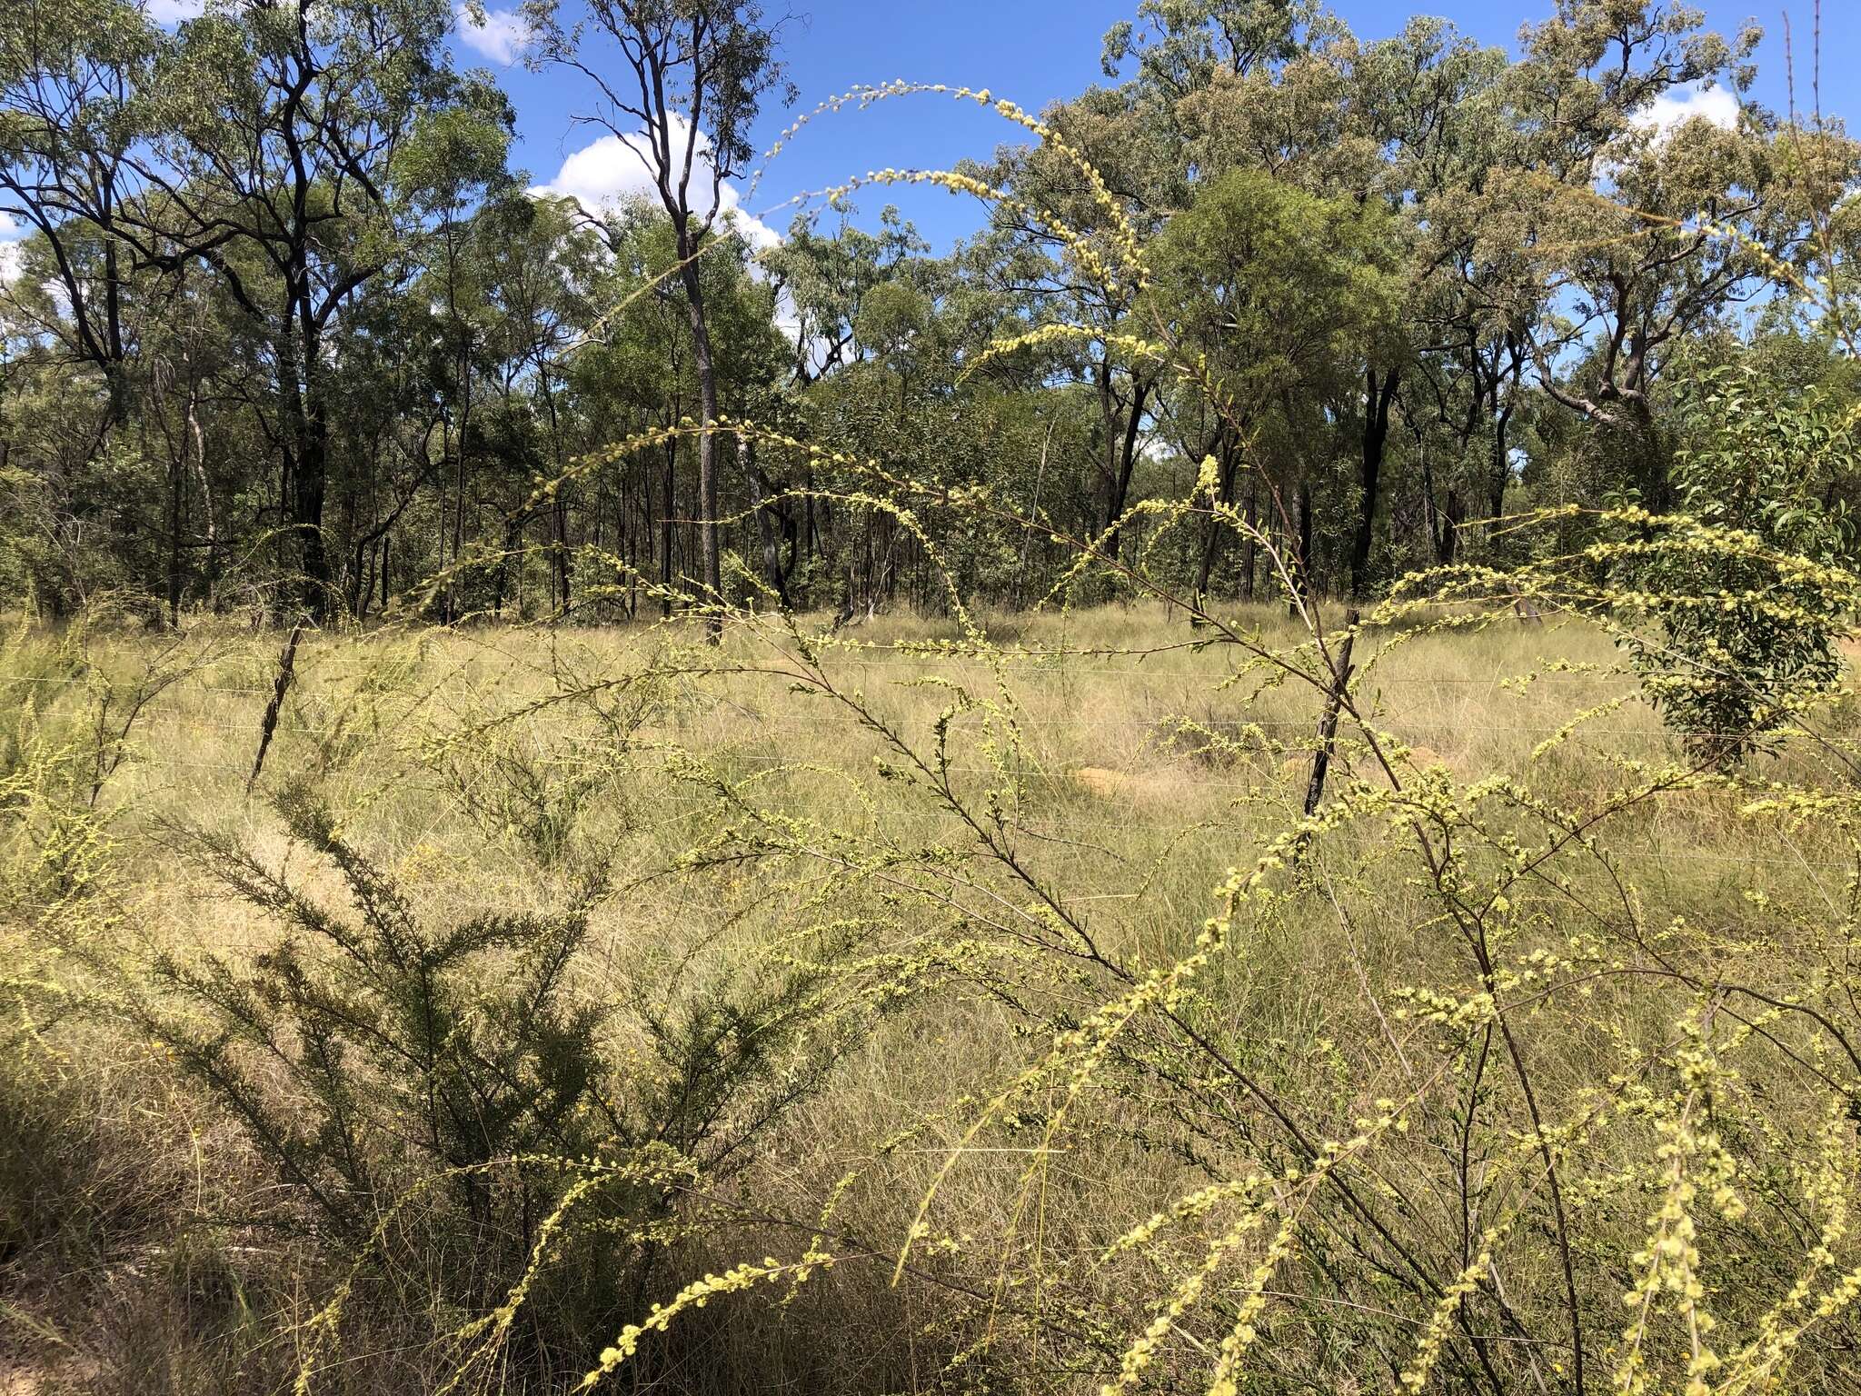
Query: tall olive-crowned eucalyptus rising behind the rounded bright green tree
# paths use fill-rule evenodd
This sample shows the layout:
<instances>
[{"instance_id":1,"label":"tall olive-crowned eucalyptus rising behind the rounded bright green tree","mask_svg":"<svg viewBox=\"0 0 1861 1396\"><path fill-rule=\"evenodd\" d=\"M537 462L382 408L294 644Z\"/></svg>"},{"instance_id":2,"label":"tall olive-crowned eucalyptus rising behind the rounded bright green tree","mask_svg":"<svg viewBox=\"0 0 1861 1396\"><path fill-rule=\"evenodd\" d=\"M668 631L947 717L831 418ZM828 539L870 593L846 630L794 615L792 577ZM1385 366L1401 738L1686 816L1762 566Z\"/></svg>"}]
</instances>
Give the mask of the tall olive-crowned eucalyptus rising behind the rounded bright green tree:
<instances>
[{"instance_id":1,"label":"tall olive-crowned eucalyptus rising behind the rounded bright green tree","mask_svg":"<svg viewBox=\"0 0 1861 1396\"><path fill-rule=\"evenodd\" d=\"M1152 65L1174 50L1169 71L1204 74L1200 86L1178 80L1176 123L1193 168L1204 181L1260 169L1316 195L1375 203L1388 212L1383 259L1401 268L1394 318L1314 424L1355 458L1355 480L1336 493L1340 506L1351 499L1338 523L1349 584L1362 594L1381 566L1383 514L1394 517L1407 499L1392 490L1392 458L1420 465L1420 521L1440 560L1476 508L1470 499L1489 493L1487 465L1470 463L1481 441L1493 443L1496 488L1509 475L1506 432L1535 300L1519 296L1532 283L1517 249L1507 261L1478 246L1485 186L1524 158L1502 95L1507 58L1433 19L1364 43L1297 6L1236 15L1260 37L1226 41L1228 61L1187 63L1184 52L1210 50L1206 35L1154 35ZM1293 24L1305 26L1297 47L1282 37ZM1407 450L1403 437L1412 437ZM1403 540L1392 536L1388 551L1401 555Z\"/></svg>"}]
</instances>

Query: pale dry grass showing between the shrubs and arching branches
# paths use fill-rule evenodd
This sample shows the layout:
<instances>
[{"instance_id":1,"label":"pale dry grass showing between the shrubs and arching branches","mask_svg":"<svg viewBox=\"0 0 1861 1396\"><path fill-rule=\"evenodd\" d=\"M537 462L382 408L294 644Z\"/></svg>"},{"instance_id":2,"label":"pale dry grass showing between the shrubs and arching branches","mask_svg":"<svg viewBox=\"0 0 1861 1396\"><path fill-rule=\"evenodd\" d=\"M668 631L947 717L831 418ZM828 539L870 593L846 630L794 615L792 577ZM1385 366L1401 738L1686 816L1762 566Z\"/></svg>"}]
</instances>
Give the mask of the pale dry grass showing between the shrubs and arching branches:
<instances>
[{"instance_id":1,"label":"pale dry grass showing between the shrubs and arching branches","mask_svg":"<svg viewBox=\"0 0 1861 1396\"><path fill-rule=\"evenodd\" d=\"M1293 640L1277 612L1245 620ZM951 722L953 789L964 802L981 802L990 787L1011 789L1011 843L1029 886L1064 888L1066 905L1120 962L1167 964L1187 953L1213 910L1212 888L1230 867L1252 864L1297 817L1316 698L1290 685L1225 687L1232 668L1223 650L1189 648L1195 637L1156 607L1012 625L1020 650L984 663L916 648L947 638L934 624L878 620L852 631L850 646L826 651L819 674L864 694L858 707L919 748L929 748L949 705L949 685L994 702L1012 694L1003 709L1022 733L1012 750L983 711ZM1373 702L1375 724L1411 748L1411 771L1459 780L1511 772L1580 804L1617 785L1625 761L1660 761L1669 750L1656 717L1636 702L1541 750L1573 713L1632 691L1613 672L1608 640L1580 624L1372 638L1377 650L1360 694ZM177 828L234 838L339 901L328 866L290 847L262 799L294 780L315 782L344 838L417 888L417 912L434 921L484 906L558 906L590 869L601 869L609 890L592 906L577 994L638 1013L696 985L770 973L772 955L802 944L797 927L823 916L890 918L873 951L910 955L930 944L947 929L936 925L934 899L888 903L903 884L929 884L925 849L951 851L936 864L949 877L940 886L1007 895L988 884L988 860L977 858L947 800L882 776L882 761L897 754L856 720L852 705L795 692L793 644L780 631L728 637L724 655L741 663L724 668L737 672L687 672L679 640L644 627L309 637L261 789L248 795L275 637L199 631L188 642L197 668L140 715L99 797L112 839L110 910L93 933L121 955L246 953L275 940L270 918L177 854ZM17 640L4 655L13 672L0 672L0 694L30 698L47 724L86 702L82 685L32 683L24 672L33 648L50 642ZM93 674L128 685L158 642L95 635L87 646ZM616 687L627 674L653 678ZM997 759L1012 780L1003 782ZM1814 761L1813 752L1792 750L1761 776L1813 772ZM1340 767L1334 789L1357 774L1388 784L1360 752L1347 748ZM746 804L720 808L713 778ZM1753 888L1839 901L1846 877L1839 836L1822 838L1813 825L1755 825L1740 817L1742 799L1692 789L1630 812L1615 830L1613 858L1632 869L1641 895L1673 914L1712 914L1727 895ZM826 873L810 871L806 856L681 866L681 854L720 830L754 825L746 808L837 830L847 847L912 858L901 858L899 886L867 879L836 890L826 906L810 905ZM542 834L538 821L547 825ZM797 838L826 847L815 832ZM1269 1061L1297 1063L1284 1087L1342 1117L1360 1109L1372 1089L1360 1074L1362 1044L1390 1039L1390 985L1416 981L1442 953L1433 944L1437 908L1412 882L1353 866L1353 838L1340 834L1338 882L1314 892L1310 905L1325 908L1323 919L1262 923L1249 953L1217 964L1200 990L1206 1013L1234 1040L1262 1044L1262 1070L1284 1070ZM15 893L6 934L19 964L30 964L20 979L43 985L71 972L37 959L33 916ZM986 1266L953 1260L947 1271L891 1290L884 1277L895 1238L908 1232L947 1150L964 1137L958 1102L988 1098L1037 1050L1029 1003L1046 1013L1076 1000L1083 1013L1098 992L1033 962L1014 983L1018 972L1005 964L958 966L940 979L951 992L873 1018L826 1089L761 1137L731 1191L737 1210L726 1208L711 1232L676 1247L676 1266L661 1273L804 1243L802 1232L849 1173L860 1180L830 1230L839 1249L873 1264L849 1262L778 1314L696 1325L687 1366L663 1368L657 1379L692 1390L770 1389L772 1374L841 1390L921 1390L940 1381L951 1353L975 1333L973 1312L960 1322L936 1318L947 1294L940 1286L981 1284L986 1295ZM966 979L984 968L1009 981ZM76 983L67 987L78 992ZM638 1024L636 1014L609 1024L616 1057L640 1050ZM15 1223L6 1238L0 1372L13 1383L9 1396L270 1390L294 1370L301 1333L294 1336L292 1323L329 1292L337 1258L274 1215L288 1199L240 1132L167 1074L147 1042L84 1016L33 1022L9 1042L39 1072L32 1080L41 1134L20 1134L13 1145L6 1199L11 1206L45 1199L56 1212ZM1297 1050L1282 1052L1286 1044ZM1541 1089L1576 1100L1602 1070L1597 1054L1608 1046L1563 1050L1543 1063ZM1386 1055L1383 1046L1375 1052ZM24 1089L26 1070L11 1089ZM1143 1143L1143 1102L1104 1104L1107 1128L1074 1145L1091 1158L1074 1167L1059 1156L1042 1180L1048 1255L1089 1256L1107 1234L1171 1206L1198 1176L1193 1152L1172 1158ZM1014 1236L1025 1227L1016 1199L1027 1154L1012 1137L1011 1130L999 1152L973 1154L942 1184L940 1234ZM886 1139L895 1143L875 1152ZM279 1256L288 1264L279 1268ZM1120 1312L1124 1295L1102 1299L1107 1312ZM415 1348L408 1333L419 1327L400 1318L365 1322L350 1348ZM586 1357L569 1355L566 1366ZM387 1392L432 1379L400 1353L331 1372L326 1385ZM508 1370L484 1383L502 1379L521 1389L521 1374ZM1044 1383L1068 1389L1066 1377Z\"/></svg>"}]
</instances>

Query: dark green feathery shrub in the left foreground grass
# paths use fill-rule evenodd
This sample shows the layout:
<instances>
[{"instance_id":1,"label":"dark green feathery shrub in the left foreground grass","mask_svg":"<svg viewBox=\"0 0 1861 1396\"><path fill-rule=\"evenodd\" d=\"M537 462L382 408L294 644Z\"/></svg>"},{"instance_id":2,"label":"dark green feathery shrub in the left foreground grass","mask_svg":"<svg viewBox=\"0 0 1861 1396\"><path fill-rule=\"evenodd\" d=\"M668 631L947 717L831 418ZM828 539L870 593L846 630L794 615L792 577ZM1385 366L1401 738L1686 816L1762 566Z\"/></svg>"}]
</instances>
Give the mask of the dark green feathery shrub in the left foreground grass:
<instances>
[{"instance_id":1,"label":"dark green feathery shrub in the left foreground grass","mask_svg":"<svg viewBox=\"0 0 1861 1396\"><path fill-rule=\"evenodd\" d=\"M277 812L348 906L231 838L175 830L283 934L257 953L160 953L130 1014L218 1096L315 1230L372 1266L361 1281L398 1288L400 1312L482 1335L515 1292L532 1362L579 1353L590 1323L610 1329L649 1290L655 1256L687 1232L692 1180L726 1178L819 1085L795 1061L817 973L698 985L618 1024L638 1005L577 981L592 893L432 923L318 797L290 787Z\"/></svg>"}]
</instances>

